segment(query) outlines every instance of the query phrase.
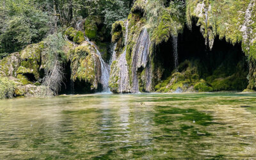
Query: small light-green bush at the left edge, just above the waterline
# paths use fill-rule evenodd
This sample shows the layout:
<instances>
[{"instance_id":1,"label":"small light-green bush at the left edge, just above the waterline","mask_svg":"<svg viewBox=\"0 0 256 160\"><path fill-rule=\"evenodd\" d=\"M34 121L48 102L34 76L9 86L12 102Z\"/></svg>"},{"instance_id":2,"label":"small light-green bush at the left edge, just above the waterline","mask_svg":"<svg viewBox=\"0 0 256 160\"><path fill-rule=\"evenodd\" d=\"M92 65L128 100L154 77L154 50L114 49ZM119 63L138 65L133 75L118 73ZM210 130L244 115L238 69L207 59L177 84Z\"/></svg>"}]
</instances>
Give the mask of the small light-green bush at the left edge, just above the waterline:
<instances>
[{"instance_id":1,"label":"small light-green bush at the left edge, just above the waterline","mask_svg":"<svg viewBox=\"0 0 256 160\"><path fill-rule=\"evenodd\" d=\"M6 78L0 77L0 99L13 98L15 92L14 81Z\"/></svg>"}]
</instances>

